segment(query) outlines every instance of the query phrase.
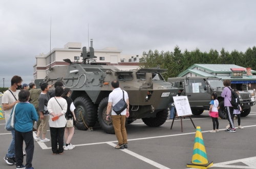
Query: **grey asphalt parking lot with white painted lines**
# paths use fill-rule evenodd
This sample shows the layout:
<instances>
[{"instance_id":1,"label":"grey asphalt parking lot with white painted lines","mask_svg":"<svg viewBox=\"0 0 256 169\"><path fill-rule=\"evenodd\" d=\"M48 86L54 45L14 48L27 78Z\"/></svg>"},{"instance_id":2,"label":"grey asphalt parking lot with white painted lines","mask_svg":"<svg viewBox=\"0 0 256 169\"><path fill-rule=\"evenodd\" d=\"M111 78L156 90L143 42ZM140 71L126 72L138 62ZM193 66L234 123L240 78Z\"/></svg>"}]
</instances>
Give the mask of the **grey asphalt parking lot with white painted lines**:
<instances>
[{"instance_id":1,"label":"grey asphalt parking lot with white painted lines","mask_svg":"<svg viewBox=\"0 0 256 169\"><path fill-rule=\"evenodd\" d=\"M0 103L2 102L0 98ZM208 111L200 116L191 116L202 130L204 145L211 168L256 168L256 106L241 119L244 129L227 133L227 120L219 120L220 131L210 133L212 121ZM62 155L52 155L51 142L35 143L33 167L37 168L187 168L193 156L196 129L189 118L172 124L167 120L160 127L148 127L141 120L126 126L128 148L116 150L114 134L106 134L96 125L94 131L75 129L71 143L76 145ZM236 127L237 120L234 120ZM49 129L48 129L49 130ZM36 132L34 132L36 134ZM4 161L10 145L11 134L5 130L5 120L0 120L0 168L16 168ZM47 132L50 138L50 131ZM25 150L25 147L24 147ZM26 159L26 157L25 157ZM24 159L24 160L25 160Z\"/></svg>"}]
</instances>

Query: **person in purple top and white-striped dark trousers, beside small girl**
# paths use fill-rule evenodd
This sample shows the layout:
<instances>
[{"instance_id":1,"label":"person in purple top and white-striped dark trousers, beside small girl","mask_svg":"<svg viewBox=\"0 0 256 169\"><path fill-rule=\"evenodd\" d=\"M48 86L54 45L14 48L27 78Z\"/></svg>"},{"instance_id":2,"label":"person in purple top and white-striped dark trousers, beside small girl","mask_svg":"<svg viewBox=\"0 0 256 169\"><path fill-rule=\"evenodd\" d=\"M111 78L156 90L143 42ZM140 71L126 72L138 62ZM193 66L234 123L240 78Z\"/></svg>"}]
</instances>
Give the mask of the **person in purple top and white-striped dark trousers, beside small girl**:
<instances>
[{"instance_id":1,"label":"person in purple top and white-striped dark trousers, beside small girl","mask_svg":"<svg viewBox=\"0 0 256 169\"><path fill-rule=\"evenodd\" d=\"M226 116L227 120L230 124L230 127L226 129L227 132L236 132L236 129L234 128L234 118L233 118L233 106L231 105L231 81L229 79L226 79L223 81L223 85L225 86L221 96L224 97L224 106L226 110Z\"/></svg>"}]
</instances>

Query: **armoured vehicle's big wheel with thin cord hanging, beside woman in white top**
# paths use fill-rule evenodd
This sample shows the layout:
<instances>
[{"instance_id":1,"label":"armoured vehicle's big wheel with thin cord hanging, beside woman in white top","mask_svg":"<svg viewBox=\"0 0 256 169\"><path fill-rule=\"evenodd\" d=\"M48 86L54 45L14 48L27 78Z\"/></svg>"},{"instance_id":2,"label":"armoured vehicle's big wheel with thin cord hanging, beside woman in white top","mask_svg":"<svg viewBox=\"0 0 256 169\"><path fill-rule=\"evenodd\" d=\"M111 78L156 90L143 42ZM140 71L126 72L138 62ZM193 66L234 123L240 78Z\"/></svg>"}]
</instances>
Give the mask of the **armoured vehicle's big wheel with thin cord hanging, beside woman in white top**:
<instances>
[{"instance_id":1,"label":"armoured vehicle's big wheel with thin cord hanging, beside woman in white top","mask_svg":"<svg viewBox=\"0 0 256 169\"><path fill-rule=\"evenodd\" d=\"M87 127L93 127L97 121L97 113L92 100L88 96L78 97L75 99L74 105L76 107L76 128L87 130Z\"/></svg>"}]
</instances>

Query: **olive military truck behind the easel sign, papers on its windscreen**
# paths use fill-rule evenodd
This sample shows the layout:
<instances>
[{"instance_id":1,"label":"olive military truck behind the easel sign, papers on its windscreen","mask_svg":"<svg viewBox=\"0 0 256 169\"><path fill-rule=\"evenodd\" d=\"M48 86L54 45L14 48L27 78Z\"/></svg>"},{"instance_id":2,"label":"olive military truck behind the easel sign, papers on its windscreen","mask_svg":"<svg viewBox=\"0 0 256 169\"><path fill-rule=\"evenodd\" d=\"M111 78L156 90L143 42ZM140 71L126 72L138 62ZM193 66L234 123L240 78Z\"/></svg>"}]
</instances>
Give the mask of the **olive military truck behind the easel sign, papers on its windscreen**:
<instances>
[{"instance_id":1,"label":"olive military truck behind the easel sign, papers on its windscreen","mask_svg":"<svg viewBox=\"0 0 256 169\"><path fill-rule=\"evenodd\" d=\"M224 119L226 111L224 108L224 98L221 93L224 89L223 81L219 78L212 77L174 77L168 78L171 86L183 88L181 95L187 96L193 115L201 115L204 110L209 110L211 94L216 92L220 105L219 117ZM240 105L242 107L241 116L245 117L250 114L251 106L255 101L251 100L249 92L239 92Z\"/></svg>"}]
</instances>

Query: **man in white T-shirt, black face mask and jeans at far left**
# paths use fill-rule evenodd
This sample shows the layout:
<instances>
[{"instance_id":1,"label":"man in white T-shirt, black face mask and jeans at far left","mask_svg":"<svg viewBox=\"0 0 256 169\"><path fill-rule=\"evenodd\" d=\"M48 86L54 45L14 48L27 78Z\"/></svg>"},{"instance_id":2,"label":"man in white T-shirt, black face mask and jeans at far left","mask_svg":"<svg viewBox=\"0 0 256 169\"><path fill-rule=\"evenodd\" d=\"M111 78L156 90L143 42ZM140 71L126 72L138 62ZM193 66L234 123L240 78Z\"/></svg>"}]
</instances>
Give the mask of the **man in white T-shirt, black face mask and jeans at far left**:
<instances>
[{"instance_id":1,"label":"man in white T-shirt, black face mask and jeans at far left","mask_svg":"<svg viewBox=\"0 0 256 169\"><path fill-rule=\"evenodd\" d=\"M22 89L22 77L13 76L11 79L11 87L4 93L2 97L3 109L5 111L5 121L10 119L13 106L18 103L18 93ZM4 160L7 164L12 165L16 162L15 159L15 131L12 130L12 141Z\"/></svg>"}]
</instances>

